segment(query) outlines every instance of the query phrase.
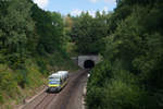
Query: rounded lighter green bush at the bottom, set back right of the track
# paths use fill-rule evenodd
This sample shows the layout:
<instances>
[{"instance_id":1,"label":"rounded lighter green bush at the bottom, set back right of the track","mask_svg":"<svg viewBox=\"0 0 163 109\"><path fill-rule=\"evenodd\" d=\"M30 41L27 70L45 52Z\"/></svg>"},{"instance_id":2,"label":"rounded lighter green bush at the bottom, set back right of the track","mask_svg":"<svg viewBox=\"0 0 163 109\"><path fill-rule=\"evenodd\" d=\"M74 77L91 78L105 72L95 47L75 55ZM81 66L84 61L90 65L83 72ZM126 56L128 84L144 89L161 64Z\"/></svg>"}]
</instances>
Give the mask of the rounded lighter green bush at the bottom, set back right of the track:
<instances>
[{"instance_id":1,"label":"rounded lighter green bush at the bottom, set back right of the track","mask_svg":"<svg viewBox=\"0 0 163 109\"><path fill-rule=\"evenodd\" d=\"M103 93L104 109L140 109L139 104L143 93L136 84L113 78L106 82Z\"/></svg>"}]
</instances>

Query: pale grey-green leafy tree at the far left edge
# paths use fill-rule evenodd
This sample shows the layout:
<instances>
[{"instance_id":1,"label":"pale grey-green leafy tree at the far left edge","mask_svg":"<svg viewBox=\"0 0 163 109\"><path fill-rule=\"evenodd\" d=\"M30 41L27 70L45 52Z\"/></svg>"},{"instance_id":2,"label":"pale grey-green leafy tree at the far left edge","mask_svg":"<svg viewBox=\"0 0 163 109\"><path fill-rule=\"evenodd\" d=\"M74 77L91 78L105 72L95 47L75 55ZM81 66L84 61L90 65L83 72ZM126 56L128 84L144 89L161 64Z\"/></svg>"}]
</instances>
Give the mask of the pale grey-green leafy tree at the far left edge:
<instances>
[{"instance_id":1,"label":"pale grey-green leafy tree at the far left edge","mask_svg":"<svg viewBox=\"0 0 163 109\"><path fill-rule=\"evenodd\" d=\"M10 64L23 62L26 45L34 29L30 17L32 3L27 0L1 1L1 51Z\"/></svg>"}]
</instances>

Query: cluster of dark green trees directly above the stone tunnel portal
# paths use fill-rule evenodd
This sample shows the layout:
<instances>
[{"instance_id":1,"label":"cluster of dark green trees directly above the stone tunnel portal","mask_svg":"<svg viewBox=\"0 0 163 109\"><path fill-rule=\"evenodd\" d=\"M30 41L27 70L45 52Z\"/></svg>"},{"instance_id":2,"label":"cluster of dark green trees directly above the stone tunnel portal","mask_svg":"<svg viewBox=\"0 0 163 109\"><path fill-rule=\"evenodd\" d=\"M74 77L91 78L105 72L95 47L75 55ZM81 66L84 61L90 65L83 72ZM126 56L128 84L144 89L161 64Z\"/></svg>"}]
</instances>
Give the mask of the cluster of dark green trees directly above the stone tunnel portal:
<instances>
[{"instance_id":1,"label":"cluster of dark green trees directly above the stone tunnel portal","mask_svg":"<svg viewBox=\"0 0 163 109\"><path fill-rule=\"evenodd\" d=\"M71 37L77 46L77 51L84 55L99 53L103 50L103 37L108 34L106 14L96 13L96 17L88 12L82 13L74 20Z\"/></svg>"}]
</instances>

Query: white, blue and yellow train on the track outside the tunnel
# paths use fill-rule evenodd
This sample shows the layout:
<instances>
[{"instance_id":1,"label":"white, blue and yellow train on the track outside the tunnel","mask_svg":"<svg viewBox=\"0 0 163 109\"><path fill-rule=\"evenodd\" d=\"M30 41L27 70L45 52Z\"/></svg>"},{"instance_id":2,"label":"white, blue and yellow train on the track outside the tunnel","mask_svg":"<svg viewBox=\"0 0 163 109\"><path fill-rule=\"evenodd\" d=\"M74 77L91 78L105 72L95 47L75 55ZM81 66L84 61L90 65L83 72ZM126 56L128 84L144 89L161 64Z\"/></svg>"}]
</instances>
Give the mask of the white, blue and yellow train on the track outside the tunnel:
<instances>
[{"instance_id":1,"label":"white, blue and yellow train on the track outside the tunnel","mask_svg":"<svg viewBox=\"0 0 163 109\"><path fill-rule=\"evenodd\" d=\"M68 82L68 71L58 71L49 76L48 92L60 92Z\"/></svg>"}]
</instances>

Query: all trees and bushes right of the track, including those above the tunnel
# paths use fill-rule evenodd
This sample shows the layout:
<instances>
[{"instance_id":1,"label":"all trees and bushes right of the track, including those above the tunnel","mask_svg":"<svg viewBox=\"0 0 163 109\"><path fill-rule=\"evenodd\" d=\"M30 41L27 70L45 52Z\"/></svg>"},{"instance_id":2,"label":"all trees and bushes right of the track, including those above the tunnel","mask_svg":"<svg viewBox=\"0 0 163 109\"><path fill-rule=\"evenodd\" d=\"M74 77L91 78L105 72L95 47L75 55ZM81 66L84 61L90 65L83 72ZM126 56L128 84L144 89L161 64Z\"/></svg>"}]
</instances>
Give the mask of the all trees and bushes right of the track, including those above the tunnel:
<instances>
[{"instance_id":1,"label":"all trees and bushes right of the track, including those above the tunnel","mask_svg":"<svg viewBox=\"0 0 163 109\"><path fill-rule=\"evenodd\" d=\"M101 53L88 81L88 109L163 108L163 1L116 0L113 13L72 17L80 53Z\"/></svg>"}]
</instances>

